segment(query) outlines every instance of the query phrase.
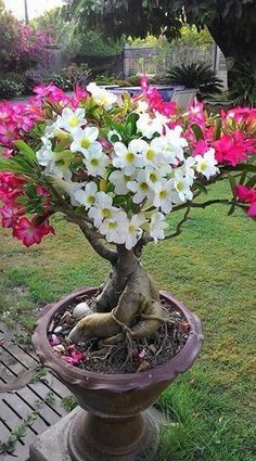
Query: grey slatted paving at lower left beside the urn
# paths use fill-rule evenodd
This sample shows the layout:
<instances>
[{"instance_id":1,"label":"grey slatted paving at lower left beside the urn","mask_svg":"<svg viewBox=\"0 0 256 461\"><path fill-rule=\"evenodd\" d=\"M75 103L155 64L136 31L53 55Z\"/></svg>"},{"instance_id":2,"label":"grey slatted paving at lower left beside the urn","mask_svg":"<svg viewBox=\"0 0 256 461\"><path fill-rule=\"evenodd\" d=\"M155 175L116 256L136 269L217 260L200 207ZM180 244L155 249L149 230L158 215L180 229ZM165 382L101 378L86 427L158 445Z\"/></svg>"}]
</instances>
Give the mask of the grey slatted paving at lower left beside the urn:
<instances>
[{"instance_id":1,"label":"grey slatted paving at lower left beside the urn","mask_svg":"<svg viewBox=\"0 0 256 461\"><path fill-rule=\"evenodd\" d=\"M69 392L52 372L39 377L39 371L35 372L38 366L34 353L14 344L10 331L0 322L0 444L7 443L14 427L21 428L24 420L36 412L14 451L2 452L0 461L27 461L35 437L67 413L61 404Z\"/></svg>"}]
</instances>

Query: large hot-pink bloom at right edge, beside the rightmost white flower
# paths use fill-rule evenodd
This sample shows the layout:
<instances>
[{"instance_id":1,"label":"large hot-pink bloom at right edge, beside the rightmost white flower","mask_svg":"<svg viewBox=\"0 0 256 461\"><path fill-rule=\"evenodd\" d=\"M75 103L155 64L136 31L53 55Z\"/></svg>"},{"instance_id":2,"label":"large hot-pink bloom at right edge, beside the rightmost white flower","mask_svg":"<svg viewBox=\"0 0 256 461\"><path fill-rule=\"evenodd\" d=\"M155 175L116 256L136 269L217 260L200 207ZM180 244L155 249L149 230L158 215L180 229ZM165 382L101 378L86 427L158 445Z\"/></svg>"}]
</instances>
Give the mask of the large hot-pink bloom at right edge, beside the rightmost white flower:
<instances>
[{"instance_id":1,"label":"large hot-pink bloom at right edge, beside the rightmost white flower","mask_svg":"<svg viewBox=\"0 0 256 461\"><path fill-rule=\"evenodd\" d=\"M232 135L223 135L213 145L216 149L218 163L228 163L232 166L247 161L247 154L254 152L253 140L245 139L242 131L236 130Z\"/></svg>"}]
</instances>

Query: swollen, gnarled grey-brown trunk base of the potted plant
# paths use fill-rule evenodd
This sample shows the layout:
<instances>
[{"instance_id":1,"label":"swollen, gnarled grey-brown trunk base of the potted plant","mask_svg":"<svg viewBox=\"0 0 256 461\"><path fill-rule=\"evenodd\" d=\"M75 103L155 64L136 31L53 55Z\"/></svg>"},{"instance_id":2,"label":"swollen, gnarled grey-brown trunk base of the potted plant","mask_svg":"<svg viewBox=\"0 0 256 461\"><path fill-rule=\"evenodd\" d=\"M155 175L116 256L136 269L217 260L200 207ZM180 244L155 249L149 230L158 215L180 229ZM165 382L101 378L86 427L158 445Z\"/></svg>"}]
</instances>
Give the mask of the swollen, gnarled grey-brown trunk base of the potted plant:
<instances>
[{"instance_id":1,"label":"swollen, gnarled grey-brown trunk base of the potted plant","mask_svg":"<svg viewBox=\"0 0 256 461\"><path fill-rule=\"evenodd\" d=\"M95 298L95 313L81 319L68 338L79 342L104 338L105 344L131 337L149 337L164 320L159 294L132 251L118 247L118 259Z\"/></svg>"}]
</instances>

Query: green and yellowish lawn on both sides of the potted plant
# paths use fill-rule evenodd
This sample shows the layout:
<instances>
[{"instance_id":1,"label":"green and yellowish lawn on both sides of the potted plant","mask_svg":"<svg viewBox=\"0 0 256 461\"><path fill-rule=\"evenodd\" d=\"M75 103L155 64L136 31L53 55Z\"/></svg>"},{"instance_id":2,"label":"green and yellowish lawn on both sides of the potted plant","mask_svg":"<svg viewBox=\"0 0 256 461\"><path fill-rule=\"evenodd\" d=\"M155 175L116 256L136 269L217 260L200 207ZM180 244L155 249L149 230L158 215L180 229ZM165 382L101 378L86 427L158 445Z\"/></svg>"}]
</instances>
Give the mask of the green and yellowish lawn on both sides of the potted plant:
<instances>
[{"instance_id":1,"label":"green and yellowish lawn on both sides of the potted plant","mask_svg":"<svg viewBox=\"0 0 256 461\"><path fill-rule=\"evenodd\" d=\"M226 196L227 184L212 199ZM177 217L170 218L174 228ZM79 285L98 285L107 265L78 229L55 218L56 238L26 249L0 234L0 316L30 332L38 310ZM223 206L194 209L183 233L148 246L144 265L203 323L200 359L162 395L171 415L157 461L255 461L255 223ZM8 313L10 311L10 313Z\"/></svg>"}]
</instances>

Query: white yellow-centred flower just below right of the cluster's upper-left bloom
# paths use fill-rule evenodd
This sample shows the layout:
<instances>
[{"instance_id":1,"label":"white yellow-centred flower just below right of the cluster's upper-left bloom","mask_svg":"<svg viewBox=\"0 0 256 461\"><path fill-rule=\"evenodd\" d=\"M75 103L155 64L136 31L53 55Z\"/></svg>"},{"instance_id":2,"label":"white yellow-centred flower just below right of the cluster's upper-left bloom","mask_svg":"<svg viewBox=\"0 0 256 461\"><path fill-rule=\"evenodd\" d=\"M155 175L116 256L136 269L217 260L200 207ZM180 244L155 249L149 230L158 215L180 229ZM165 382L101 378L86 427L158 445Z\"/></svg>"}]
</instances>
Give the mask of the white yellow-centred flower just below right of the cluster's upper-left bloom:
<instances>
[{"instance_id":1,"label":"white yellow-centred flower just below right of the cluster's upper-left bloom","mask_svg":"<svg viewBox=\"0 0 256 461\"><path fill-rule=\"evenodd\" d=\"M86 155L90 151L101 151L101 143L95 141L99 136L97 127L87 127L84 130L77 128L73 132L73 142L71 144L72 152L81 152Z\"/></svg>"}]
</instances>

